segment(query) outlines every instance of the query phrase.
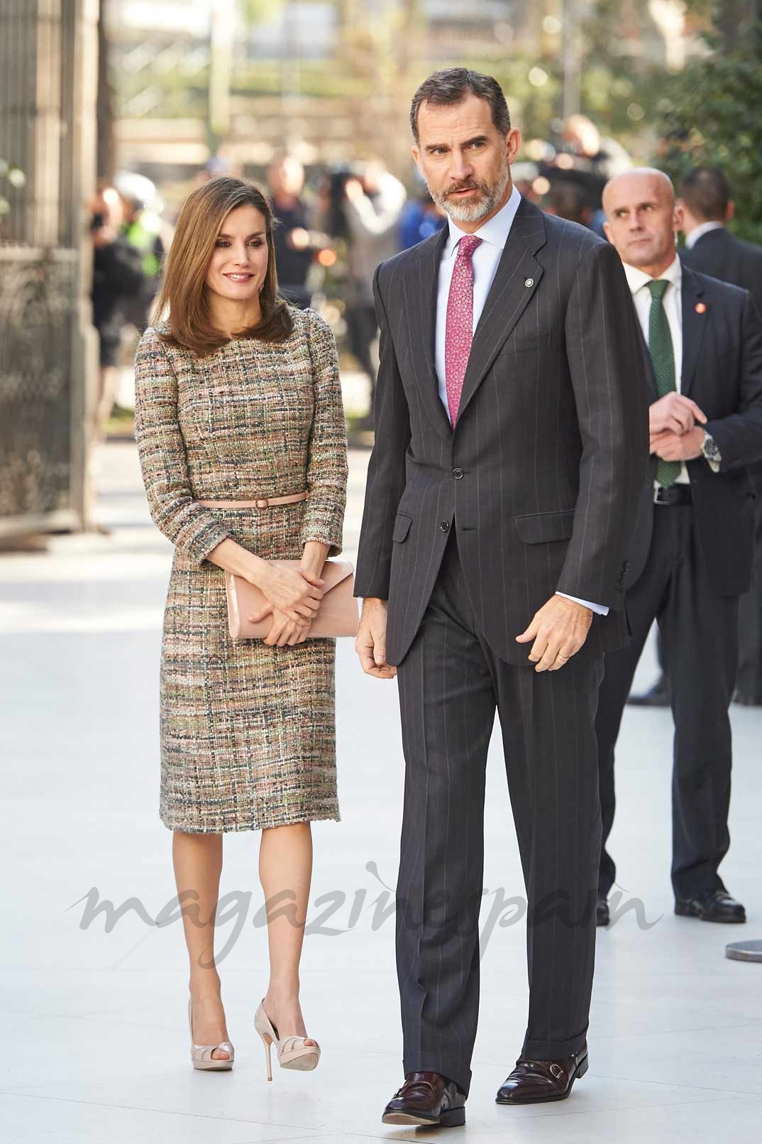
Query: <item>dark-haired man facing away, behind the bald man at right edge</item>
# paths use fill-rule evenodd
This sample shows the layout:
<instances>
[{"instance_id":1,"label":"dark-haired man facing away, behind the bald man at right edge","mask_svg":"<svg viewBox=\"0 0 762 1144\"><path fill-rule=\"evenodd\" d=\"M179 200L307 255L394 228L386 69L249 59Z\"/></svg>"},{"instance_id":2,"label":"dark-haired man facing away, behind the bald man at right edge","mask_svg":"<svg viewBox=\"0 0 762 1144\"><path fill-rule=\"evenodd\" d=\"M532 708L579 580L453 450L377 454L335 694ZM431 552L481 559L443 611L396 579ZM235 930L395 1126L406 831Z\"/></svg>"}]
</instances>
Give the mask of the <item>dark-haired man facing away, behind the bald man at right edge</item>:
<instances>
[{"instance_id":1,"label":"dark-haired man facing away, behind the bald man at right edge","mask_svg":"<svg viewBox=\"0 0 762 1144\"><path fill-rule=\"evenodd\" d=\"M728 178L719 167L697 167L680 184L685 245L683 265L747 289L762 313L762 247L725 229L733 217ZM754 501L752 587L738 602L738 678L735 702L762 706L762 463L749 466Z\"/></svg>"}]
</instances>

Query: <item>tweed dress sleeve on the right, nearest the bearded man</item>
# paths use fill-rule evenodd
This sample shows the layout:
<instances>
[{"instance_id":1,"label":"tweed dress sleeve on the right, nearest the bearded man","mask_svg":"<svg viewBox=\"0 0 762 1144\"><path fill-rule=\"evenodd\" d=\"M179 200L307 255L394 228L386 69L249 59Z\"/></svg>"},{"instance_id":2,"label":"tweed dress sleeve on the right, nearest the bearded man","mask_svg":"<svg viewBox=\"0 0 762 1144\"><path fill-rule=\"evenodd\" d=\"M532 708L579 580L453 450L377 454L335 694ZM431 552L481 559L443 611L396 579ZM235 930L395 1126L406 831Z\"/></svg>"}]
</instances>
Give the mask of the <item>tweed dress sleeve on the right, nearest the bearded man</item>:
<instances>
[{"instance_id":1,"label":"tweed dress sleeve on the right, nearest the bearded man","mask_svg":"<svg viewBox=\"0 0 762 1144\"><path fill-rule=\"evenodd\" d=\"M316 540L329 556L342 551L346 507L346 422L342 402L336 339L327 321L307 310L314 415L307 459L307 501L300 543Z\"/></svg>"}]
</instances>

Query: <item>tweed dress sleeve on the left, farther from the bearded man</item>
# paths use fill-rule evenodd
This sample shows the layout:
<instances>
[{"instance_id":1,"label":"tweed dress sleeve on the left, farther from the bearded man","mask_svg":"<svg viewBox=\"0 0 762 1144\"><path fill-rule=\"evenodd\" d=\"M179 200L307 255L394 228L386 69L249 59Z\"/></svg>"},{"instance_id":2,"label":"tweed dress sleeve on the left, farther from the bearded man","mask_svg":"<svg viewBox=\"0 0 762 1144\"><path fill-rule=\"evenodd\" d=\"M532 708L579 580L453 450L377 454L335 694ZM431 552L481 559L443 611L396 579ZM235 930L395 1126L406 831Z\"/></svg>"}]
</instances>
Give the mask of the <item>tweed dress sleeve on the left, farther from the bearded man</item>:
<instances>
[{"instance_id":1,"label":"tweed dress sleeve on the left, farther from the bearded man","mask_svg":"<svg viewBox=\"0 0 762 1144\"><path fill-rule=\"evenodd\" d=\"M177 378L166 344L151 326L135 356L135 439L151 519L201 564L231 530L193 499L177 420Z\"/></svg>"}]
</instances>

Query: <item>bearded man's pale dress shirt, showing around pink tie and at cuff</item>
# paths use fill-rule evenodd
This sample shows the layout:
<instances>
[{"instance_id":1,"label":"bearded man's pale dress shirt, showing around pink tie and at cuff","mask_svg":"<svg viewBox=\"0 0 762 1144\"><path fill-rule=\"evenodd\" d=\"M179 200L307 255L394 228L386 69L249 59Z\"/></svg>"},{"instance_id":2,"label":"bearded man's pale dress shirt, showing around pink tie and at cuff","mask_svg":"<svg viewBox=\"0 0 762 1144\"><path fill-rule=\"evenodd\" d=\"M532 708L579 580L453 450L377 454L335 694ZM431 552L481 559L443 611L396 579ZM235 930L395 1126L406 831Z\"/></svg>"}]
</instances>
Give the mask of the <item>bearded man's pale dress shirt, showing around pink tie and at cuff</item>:
<instances>
[{"instance_id":1,"label":"bearded man's pale dress shirt, showing around pink tie and at cuff","mask_svg":"<svg viewBox=\"0 0 762 1144\"><path fill-rule=\"evenodd\" d=\"M513 220L516 216L516 210L519 209L519 204L521 202L521 194L516 190L515 185L511 191L511 194L504 206L492 215L483 227L474 231L476 238L481 238L480 245L474 251L471 261L474 268L474 318L473 318L473 329L476 328L476 323L479 321L480 315L484 309L484 302L487 301L487 295L489 294L490 286L492 285L492 279L495 278L495 271L497 270L498 262L503 257L503 248L508 240L508 235L511 232L511 227L513 225ZM444 240L444 247L442 248L442 259L439 264L439 288L436 292L436 333L434 340L434 362L436 366L436 380L439 382L439 396L441 398L442 405L447 413L448 420L450 419L450 407L447 399L447 376L444 371L444 339L447 334L447 302L450 296L450 283L452 281L452 271L455 269L455 260L457 256L458 243L465 236L465 231L460 230L457 223L448 216L449 233ZM597 612L599 615L605 615L609 609L604 604L592 604L587 599L578 599L577 596L569 596L566 591L556 593L556 596L566 596L567 599L573 599L577 604L584 604L585 607L592 609Z\"/></svg>"}]
</instances>

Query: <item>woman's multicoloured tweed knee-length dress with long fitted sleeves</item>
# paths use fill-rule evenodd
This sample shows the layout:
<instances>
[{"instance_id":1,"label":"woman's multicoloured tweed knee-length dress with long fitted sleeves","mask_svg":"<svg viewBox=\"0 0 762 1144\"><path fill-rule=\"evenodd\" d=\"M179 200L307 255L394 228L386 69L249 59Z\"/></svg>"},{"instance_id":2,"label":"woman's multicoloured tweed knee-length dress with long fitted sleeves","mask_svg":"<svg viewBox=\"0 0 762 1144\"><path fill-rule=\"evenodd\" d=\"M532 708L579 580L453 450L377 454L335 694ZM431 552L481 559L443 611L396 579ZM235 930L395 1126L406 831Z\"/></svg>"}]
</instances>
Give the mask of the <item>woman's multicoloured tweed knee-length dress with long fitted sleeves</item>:
<instances>
[{"instance_id":1,"label":"woman's multicoloured tweed knee-length dress with long fitted sleeves","mask_svg":"<svg viewBox=\"0 0 762 1144\"><path fill-rule=\"evenodd\" d=\"M149 327L135 360L135 435L151 517L175 545L161 643L159 815L173 831L339 820L335 639L233 641L231 537L265 559L308 540L342 551L346 428L336 342L313 310L282 343L231 340L206 358ZM306 490L265 509L204 508Z\"/></svg>"}]
</instances>

